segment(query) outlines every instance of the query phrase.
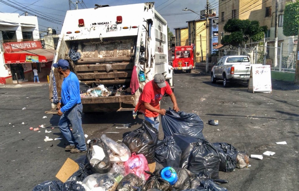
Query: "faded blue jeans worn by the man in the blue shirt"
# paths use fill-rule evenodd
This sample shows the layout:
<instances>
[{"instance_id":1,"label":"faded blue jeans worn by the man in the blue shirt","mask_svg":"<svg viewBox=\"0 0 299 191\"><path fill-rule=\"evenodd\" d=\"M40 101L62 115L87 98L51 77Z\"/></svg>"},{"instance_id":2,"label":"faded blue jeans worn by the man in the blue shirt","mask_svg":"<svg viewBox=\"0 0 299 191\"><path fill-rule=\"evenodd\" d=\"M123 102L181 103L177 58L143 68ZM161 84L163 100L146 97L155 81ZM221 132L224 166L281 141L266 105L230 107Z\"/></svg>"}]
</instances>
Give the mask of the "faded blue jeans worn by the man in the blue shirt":
<instances>
[{"instance_id":1,"label":"faded blue jeans worn by the man in the blue shirt","mask_svg":"<svg viewBox=\"0 0 299 191\"><path fill-rule=\"evenodd\" d=\"M64 112L60 117L58 127L71 146L76 145L79 150L85 151L87 148L82 128L82 110L83 106L82 104L79 104L73 107L71 110ZM69 127L70 124L73 128L72 131Z\"/></svg>"}]
</instances>

